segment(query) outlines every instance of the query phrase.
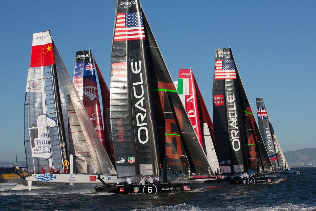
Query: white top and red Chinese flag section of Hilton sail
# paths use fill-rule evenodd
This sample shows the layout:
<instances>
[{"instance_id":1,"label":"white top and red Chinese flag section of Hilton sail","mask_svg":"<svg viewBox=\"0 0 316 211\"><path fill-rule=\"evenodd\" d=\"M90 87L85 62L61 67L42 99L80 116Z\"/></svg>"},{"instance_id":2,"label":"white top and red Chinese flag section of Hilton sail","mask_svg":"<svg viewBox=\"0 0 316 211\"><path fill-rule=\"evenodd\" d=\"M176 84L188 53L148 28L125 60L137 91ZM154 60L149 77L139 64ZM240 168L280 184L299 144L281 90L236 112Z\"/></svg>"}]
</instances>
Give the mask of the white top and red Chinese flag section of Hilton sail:
<instances>
[{"instance_id":1,"label":"white top and red Chinese flag section of Hilton sail","mask_svg":"<svg viewBox=\"0 0 316 211\"><path fill-rule=\"evenodd\" d=\"M49 31L33 34L30 67L55 64L52 38Z\"/></svg>"}]
</instances>

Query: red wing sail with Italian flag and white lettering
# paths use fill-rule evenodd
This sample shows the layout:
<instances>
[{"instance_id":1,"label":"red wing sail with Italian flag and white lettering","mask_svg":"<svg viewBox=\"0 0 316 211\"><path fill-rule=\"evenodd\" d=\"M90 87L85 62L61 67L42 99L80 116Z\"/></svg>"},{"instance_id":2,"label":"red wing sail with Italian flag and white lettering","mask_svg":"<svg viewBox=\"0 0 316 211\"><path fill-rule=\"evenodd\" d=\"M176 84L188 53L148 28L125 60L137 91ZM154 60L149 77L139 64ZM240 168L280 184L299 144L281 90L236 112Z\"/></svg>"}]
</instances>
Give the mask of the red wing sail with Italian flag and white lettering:
<instances>
[{"instance_id":1,"label":"red wing sail with Italian flag and white lettering","mask_svg":"<svg viewBox=\"0 0 316 211\"><path fill-rule=\"evenodd\" d=\"M193 126L201 146L203 147L203 138L200 125L200 117L197 105L197 95L195 89L195 80L191 69L180 69L178 76L178 93L184 103L185 111Z\"/></svg>"}]
</instances>

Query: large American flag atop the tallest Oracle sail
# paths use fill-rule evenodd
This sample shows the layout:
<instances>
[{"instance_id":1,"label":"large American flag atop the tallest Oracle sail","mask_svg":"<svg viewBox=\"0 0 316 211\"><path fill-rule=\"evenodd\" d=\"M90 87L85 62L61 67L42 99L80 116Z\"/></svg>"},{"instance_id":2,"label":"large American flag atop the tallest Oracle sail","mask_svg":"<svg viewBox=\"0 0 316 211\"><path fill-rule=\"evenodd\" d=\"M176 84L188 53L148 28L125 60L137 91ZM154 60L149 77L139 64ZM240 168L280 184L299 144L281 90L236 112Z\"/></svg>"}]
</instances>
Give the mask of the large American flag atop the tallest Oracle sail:
<instances>
[{"instance_id":1,"label":"large American flag atop the tallest Oracle sail","mask_svg":"<svg viewBox=\"0 0 316 211\"><path fill-rule=\"evenodd\" d=\"M143 16L140 12L118 13L114 41L144 40Z\"/></svg>"}]
</instances>

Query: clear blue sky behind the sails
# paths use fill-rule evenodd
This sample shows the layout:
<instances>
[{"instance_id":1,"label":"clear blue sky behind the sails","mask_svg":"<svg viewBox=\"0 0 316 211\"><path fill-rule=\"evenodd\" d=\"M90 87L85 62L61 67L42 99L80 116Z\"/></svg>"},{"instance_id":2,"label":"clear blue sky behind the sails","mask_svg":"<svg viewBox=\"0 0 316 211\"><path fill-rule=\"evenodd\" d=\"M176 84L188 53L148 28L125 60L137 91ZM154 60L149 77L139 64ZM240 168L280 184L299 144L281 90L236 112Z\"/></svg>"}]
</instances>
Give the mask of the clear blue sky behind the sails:
<instances>
[{"instance_id":1,"label":"clear blue sky behind the sails","mask_svg":"<svg viewBox=\"0 0 316 211\"><path fill-rule=\"evenodd\" d=\"M141 1L173 80L192 68L212 118L216 48L232 48L252 111L263 97L283 152L316 147L316 1ZM110 86L115 0L3 1L0 160L25 160L24 99L33 33L51 31L73 78L91 49ZM6 65L5 65L6 64Z\"/></svg>"}]
</instances>

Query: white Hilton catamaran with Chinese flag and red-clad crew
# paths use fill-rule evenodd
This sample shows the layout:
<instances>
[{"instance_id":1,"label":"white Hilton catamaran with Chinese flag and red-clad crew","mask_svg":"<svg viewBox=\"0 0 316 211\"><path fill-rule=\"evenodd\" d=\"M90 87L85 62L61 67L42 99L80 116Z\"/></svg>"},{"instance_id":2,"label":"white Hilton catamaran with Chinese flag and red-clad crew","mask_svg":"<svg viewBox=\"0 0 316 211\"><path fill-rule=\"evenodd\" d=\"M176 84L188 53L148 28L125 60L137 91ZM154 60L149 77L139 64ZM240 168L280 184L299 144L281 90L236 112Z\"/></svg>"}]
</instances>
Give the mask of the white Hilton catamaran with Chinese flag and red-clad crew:
<instances>
[{"instance_id":1,"label":"white Hilton catamaran with Chinese flag and red-clad crew","mask_svg":"<svg viewBox=\"0 0 316 211\"><path fill-rule=\"evenodd\" d=\"M70 170L70 174L32 173L26 178L30 189L32 181L101 183L97 174L111 175L106 182L117 182L50 31L33 34L24 110L28 173L41 167Z\"/></svg>"}]
</instances>

